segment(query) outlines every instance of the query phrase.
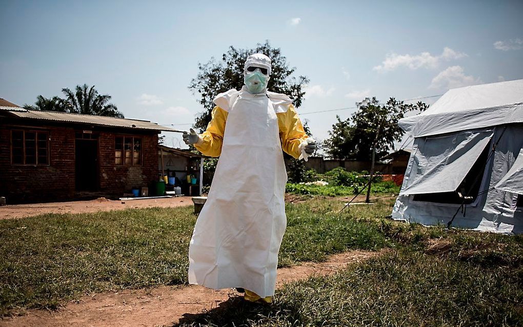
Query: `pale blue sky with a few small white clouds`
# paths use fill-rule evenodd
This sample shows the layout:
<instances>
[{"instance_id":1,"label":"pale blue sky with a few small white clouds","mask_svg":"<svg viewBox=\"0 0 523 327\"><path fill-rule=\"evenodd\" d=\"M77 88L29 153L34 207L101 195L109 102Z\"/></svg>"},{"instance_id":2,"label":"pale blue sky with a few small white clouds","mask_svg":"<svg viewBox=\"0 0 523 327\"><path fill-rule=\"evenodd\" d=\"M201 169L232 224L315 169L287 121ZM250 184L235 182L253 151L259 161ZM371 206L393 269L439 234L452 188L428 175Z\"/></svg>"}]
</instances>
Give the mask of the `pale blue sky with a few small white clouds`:
<instances>
[{"instance_id":1,"label":"pale blue sky with a few small white clouds","mask_svg":"<svg viewBox=\"0 0 523 327\"><path fill-rule=\"evenodd\" d=\"M269 40L310 78L298 111L325 139L354 109L306 112L523 78L521 17L521 1L2 1L0 97L94 84L127 118L186 129L198 62Z\"/></svg>"}]
</instances>

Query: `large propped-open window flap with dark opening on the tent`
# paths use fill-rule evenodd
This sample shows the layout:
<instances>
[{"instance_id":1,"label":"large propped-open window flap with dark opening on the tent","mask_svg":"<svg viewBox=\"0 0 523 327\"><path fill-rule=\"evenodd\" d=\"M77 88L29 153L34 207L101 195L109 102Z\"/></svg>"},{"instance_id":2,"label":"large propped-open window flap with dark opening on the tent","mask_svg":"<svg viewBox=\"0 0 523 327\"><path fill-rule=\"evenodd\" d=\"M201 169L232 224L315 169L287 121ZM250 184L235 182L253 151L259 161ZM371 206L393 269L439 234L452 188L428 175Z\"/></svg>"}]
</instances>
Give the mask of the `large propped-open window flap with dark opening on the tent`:
<instances>
[{"instance_id":1,"label":"large propped-open window flap with dark opening on the tent","mask_svg":"<svg viewBox=\"0 0 523 327\"><path fill-rule=\"evenodd\" d=\"M453 199L459 197L458 192L477 195L492 134L492 130L466 131L420 139L414 153L415 168L401 194L442 203L461 203Z\"/></svg>"}]
</instances>

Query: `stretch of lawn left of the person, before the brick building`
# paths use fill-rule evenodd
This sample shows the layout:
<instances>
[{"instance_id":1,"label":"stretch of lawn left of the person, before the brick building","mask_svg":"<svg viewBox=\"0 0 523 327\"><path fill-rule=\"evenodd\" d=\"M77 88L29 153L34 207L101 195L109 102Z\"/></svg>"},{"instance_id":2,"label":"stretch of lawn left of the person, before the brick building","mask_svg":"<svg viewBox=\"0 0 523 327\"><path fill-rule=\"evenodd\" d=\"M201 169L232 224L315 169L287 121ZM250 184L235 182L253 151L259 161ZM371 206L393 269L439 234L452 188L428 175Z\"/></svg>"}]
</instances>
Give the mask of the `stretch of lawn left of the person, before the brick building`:
<instances>
[{"instance_id":1,"label":"stretch of lawn left of the person, before the brick building","mask_svg":"<svg viewBox=\"0 0 523 327\"><path fill-rule=\"evenodd\" d=\"M0 313L93 291L186 282L190 207L0 221Z\"/></svg>"}]
</instances>

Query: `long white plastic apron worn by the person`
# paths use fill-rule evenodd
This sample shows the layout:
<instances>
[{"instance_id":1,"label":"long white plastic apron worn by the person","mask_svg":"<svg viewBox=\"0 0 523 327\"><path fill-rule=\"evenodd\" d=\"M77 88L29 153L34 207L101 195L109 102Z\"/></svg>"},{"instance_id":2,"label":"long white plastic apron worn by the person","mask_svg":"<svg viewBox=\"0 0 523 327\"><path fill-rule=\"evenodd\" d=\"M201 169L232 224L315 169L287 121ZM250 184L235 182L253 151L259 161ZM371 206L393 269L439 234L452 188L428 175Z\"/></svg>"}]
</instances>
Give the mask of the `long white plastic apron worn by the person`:
<instances>
[{"instance_id":1,"label":"long white plastic apron worn by the person","mask_svg":"<svg viewBox=\"0 0 523 327\"><path fill-rule=\"evenodd\" d=\"M222 152L189 246L189 283L274 295L287 219L278 118L265 94L231 104Z\"/></svg>"}]
</instances>

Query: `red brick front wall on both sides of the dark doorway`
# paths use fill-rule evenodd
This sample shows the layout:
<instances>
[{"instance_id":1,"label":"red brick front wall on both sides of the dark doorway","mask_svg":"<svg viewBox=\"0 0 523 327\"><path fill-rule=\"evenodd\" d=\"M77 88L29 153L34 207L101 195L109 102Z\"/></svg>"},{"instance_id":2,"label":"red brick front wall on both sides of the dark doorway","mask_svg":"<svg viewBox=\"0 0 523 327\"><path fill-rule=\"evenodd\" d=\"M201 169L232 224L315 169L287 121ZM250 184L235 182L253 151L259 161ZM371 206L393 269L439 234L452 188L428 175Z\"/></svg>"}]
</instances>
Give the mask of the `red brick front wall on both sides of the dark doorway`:
<instances>
[{"instance_id":1,"label":"red brick front wall on both sides of the dark doorway","mask_svg":"<svg viewBox=\"0 0 523 327\"><path fill-rule=\"evenodd\" d=\"M12 126L0 123L0 196L8 204L72 200L75 193L75 129L41 125L49 132L50 165L11 164ZM31 128L19 128L35 130ZM78 128L77 128L78 129ZM78 129L81 130L81 129ZM151 186L158 178L158 135L134 134L142 138L142 165L115 165L115 136L129 135L99 131L99 193L121 197L132 187ZM130 134L133 135L133 134Z\"/></svg>"}]
</instances>

